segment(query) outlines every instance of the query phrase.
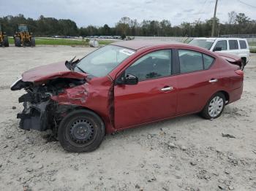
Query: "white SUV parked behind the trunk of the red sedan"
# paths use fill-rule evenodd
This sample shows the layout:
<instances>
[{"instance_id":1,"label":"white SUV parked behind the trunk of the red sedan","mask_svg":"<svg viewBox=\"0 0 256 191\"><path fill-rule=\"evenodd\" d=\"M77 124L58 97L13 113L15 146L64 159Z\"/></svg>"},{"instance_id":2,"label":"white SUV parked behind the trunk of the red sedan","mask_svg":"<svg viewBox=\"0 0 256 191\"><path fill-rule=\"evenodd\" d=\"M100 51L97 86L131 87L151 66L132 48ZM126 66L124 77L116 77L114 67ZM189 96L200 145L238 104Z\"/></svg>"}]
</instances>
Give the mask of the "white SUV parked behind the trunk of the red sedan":
<instances>
[{"instance_id":1,"label":"white SUV parked behind the trunk of the red sedan","mask_svg":"<svg viewBox=\"0 0 256 191\"><path fill-rule=\"evenodd\" d=\"M195 38L189 44L203 47L210 51L225 52L238 55L243 63L241 69L249 61L249 45L246 39L239 38Z\"/></svg>"}]
</instances>

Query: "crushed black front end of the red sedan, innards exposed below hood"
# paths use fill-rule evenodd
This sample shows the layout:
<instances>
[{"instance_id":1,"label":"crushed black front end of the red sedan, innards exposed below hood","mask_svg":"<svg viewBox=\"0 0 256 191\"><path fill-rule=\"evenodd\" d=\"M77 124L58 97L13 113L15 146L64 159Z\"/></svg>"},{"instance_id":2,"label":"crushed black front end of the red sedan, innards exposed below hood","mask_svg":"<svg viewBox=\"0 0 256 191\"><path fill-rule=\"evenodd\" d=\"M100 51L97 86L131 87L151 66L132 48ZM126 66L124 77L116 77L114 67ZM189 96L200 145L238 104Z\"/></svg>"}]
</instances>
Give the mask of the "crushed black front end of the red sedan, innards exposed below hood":
<instances>
[{"instance_id":1,"label":"crushed black front end of the red sedan, innards exposed below hood","mask_svg":"<svg viewBox=\"0 0 256 191\"><path fill-rule=\"evenodd\" d=\"M85 84L85 79L57 78L44 84L35 85L33 82L23 82L19 79L11 90L26 90L26 94L18 98L24 109L18 113L20 128L24 130L56 130L65 112L73 105L60 106L53 97L64 93L67 88Z\"/></svg>"}]
</instances>

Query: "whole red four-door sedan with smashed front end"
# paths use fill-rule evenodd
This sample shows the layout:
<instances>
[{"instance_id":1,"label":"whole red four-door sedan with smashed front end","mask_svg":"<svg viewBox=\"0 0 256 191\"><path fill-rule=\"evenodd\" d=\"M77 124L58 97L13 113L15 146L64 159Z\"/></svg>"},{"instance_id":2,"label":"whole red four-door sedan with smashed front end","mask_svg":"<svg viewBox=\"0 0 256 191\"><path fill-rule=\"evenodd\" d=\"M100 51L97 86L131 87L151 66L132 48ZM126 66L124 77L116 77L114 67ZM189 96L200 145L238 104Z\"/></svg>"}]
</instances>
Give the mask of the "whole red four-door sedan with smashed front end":
<instances>
[{"instance_id":1,"label":"whole red four-door sedan with smashed front end","mask_svg":"<svg viewBox=\"0 0 256 191\"><path fill-rule=\"evenodd\" d=\"M239 66L200 47L129 41L26 71L11 90L26 90L20 128L51 129L67 151L89 152L105 133L184 114L217 118L241 98L243 79Z\"/></svg>"}]
</instances>

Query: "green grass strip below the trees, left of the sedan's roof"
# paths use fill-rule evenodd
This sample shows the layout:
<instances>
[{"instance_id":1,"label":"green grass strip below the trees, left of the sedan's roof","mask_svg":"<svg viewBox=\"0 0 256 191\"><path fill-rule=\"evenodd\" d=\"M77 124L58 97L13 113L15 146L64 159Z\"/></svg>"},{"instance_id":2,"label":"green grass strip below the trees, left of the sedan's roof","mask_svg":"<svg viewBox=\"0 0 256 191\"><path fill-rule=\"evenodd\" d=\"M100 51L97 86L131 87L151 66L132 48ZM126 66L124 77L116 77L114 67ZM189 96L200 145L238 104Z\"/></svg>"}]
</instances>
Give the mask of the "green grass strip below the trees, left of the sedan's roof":
<instances>
[{"instance_id":1,"label":"green grass strip below the trees, left of the sedan's roof","mask_svg":"<svg viewBox=\"0 0 256 191\"><path fill-rule=\"evenodd\" d=\"M113 41L99 40L100 45L110 44ZM9 37L9 43L14 44L14 39ZM89 46L89 41L86 39L73 40L73 39L47 39L47 38L36 38L37 45L66 45L66 46Z\"/></svg>"}]
</instances>

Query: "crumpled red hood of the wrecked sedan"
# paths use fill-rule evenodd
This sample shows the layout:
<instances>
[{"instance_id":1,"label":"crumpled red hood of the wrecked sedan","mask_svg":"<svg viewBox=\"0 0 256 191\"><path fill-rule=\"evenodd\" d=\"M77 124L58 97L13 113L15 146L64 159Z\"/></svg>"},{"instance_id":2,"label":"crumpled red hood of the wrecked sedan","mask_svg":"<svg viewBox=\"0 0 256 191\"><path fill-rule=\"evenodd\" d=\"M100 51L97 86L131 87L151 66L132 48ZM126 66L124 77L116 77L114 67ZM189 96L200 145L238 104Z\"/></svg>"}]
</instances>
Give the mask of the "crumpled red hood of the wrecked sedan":
<instances>
[{"instance_id":1,"label":"crumpled red hood of the wrecked sedan","mask_svg":"<svg viewBox=\"0 0 256 191\"><path fill-rule=\"evenodd\" d=\"M83 74L67 69L65 62L51 63L25 71L22 74L23 82L42 83L49 79L75 78L84 79L88 74Z\"/></svg>"}]
</instances>

